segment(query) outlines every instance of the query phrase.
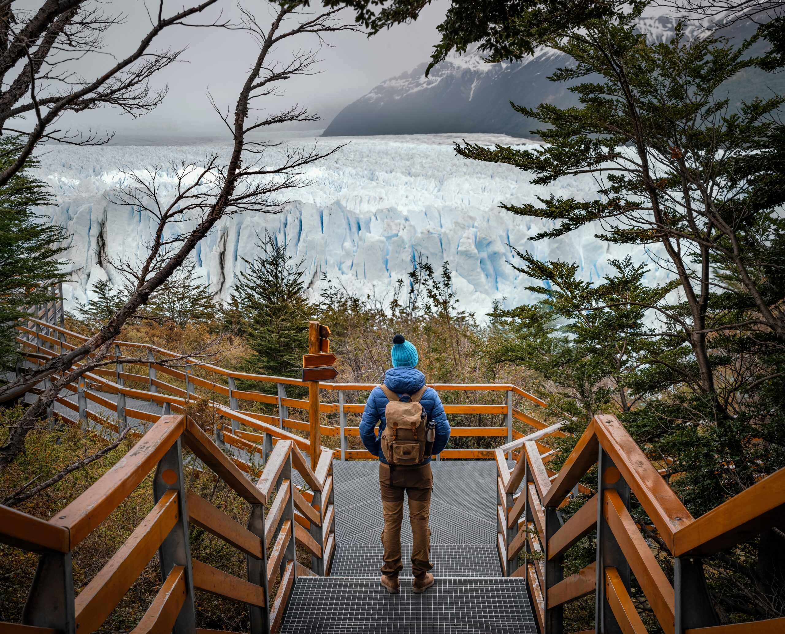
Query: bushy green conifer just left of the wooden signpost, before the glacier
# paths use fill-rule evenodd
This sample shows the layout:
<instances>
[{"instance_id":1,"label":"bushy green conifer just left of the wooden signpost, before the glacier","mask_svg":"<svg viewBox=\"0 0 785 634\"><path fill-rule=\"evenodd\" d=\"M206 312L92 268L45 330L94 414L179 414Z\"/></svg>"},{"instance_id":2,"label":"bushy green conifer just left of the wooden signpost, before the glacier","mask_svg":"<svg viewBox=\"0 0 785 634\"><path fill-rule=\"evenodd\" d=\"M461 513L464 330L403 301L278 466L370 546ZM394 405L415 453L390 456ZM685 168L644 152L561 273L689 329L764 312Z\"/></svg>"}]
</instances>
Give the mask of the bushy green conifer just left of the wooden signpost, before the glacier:
<instances>
[{"instance_id":1,"label":"bushy green conifer just left of the wooden signpost, before the glacier","mask_svg":"<svg viewBox=\"0 0 785 634\"><path fill-rule=\"evenodd\" d=\"M247 335L254 351L249 370L296 377L301 355L308 352L308 322L316 306L305 291L302 262L287 253L286 243L278 244L265 231L257 247L261 256L253 262L243 258L247 271L239 274L225 319L235 319Z\"/></svg>"}]
</instances>

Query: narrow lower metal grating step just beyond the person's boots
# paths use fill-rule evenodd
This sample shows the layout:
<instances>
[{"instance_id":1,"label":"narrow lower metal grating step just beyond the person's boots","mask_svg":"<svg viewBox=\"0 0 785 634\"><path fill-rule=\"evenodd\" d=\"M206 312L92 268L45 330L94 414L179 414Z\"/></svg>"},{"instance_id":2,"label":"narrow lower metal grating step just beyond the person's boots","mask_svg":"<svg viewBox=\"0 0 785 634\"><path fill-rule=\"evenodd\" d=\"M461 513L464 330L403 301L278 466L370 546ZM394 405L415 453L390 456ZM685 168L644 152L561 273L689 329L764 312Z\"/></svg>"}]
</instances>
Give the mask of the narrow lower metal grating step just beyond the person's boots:
<instances>
[{"instance_id":1,"label":"narrow lower metal grating step just beyond the person's boots","mask_svg":"<svg viewBox=\"0 0 785 634\"><path fill-rule=\"evenodd\" d=\"M335 545L331 577L378 578L384 550L381 543ZM411 544L401 546L402 577L411 578ZM439 577L500 577L495 545L431 545L433 574Z\"/></svg>"}]
</instances>

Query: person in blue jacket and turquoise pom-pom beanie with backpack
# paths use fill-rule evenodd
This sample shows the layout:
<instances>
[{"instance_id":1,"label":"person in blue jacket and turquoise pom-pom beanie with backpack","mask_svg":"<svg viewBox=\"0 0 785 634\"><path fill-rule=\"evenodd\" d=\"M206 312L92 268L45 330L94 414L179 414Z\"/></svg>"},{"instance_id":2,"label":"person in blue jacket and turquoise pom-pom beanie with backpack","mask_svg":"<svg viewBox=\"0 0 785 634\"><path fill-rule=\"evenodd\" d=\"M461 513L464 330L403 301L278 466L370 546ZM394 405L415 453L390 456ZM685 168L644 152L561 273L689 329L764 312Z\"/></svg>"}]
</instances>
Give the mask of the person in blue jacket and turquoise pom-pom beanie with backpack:
<instances>
[{"instance_id":1,"label":"person in blue jacket and turquoise pom-pom beanie with backpack","mask_svg":"<svg viewBox=\"0 0 785 634\"><path fill-rule=\"evenodd\" d=\"M400 527L403 493L409 499L412 550L412 590L425 592L434 579L430 562L431 530L428 519L433 489L431 456L439 454L450 439L450 424L439 395L425 387L425 375L416 369L417 348L401 334L392 337L392 370L384 383L373 389L363 410L360 439L379 457L379 488L382 495L384 564L382 585L395 594L403 570ZM379 424L378 435L375 431Z\"/></svg>"}]
</instances>

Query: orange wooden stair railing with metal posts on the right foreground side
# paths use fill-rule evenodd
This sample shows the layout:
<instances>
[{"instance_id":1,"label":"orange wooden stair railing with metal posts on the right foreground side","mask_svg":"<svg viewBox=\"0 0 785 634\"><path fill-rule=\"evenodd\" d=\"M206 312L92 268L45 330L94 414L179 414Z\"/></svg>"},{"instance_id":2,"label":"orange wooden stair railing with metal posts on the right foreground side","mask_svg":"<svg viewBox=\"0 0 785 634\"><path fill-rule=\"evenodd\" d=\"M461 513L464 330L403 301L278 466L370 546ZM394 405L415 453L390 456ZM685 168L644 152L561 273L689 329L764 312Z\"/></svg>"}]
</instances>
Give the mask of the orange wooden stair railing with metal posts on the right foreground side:
<instances>
[{"instance_id":1,"label":"orange wooden stair railing with metal posts on the right foreground side","mask_svg":"<svg viewBox=\"0 0 785 634\"><path fill-rule=\"evenodd\" d=\"M517 463L509 469L502 451L518 448ZM543 634L561 634L564 604L592 592L596 593L597 632L644 634L646 629L630 599L631 575L666 634L785 632L785 618L717 625L700 562L701 556L785 522L785 468L693 519L613 416L593 418L558 473L547 469L553 454L536 442L536 435L498 451L502 570L527 579ZM594 465L598 465L596 492L579 484ZM558 509L578 493L591 497L562 523ZM630 494L674 558L673 584L630 516ZM596 561L564 578L564 553L593 530L597 531ZM522 567L517 565L520 552L524 552Z\"/></svg>"}]
</instances>

